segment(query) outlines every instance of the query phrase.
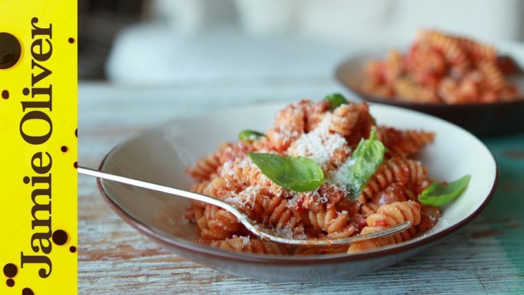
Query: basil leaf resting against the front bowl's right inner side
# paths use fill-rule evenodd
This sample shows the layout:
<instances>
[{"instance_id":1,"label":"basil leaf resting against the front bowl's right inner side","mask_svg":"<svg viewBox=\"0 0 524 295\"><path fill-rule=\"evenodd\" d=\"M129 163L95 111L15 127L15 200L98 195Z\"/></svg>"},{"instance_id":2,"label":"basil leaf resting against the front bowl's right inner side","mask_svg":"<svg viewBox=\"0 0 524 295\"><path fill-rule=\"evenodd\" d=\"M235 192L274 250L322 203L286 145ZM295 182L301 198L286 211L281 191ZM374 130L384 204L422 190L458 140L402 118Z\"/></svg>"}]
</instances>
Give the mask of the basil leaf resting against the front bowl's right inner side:
<instances>
[{"instance_id":1,"label":"basil leaf resting against the front bowl's right inner side","mask_svg":"<svg viewBox=\"0 0 524 295\"><path fill-rule=\"evenodd\" d=\"M471 176L466 175L461 179L447 183L447 185L434 182L422 191L419 195L419 202L433 207L439 207L450 203L464 192L467 185L470 183L470 179Z\"/></svg>"}]
</instances>

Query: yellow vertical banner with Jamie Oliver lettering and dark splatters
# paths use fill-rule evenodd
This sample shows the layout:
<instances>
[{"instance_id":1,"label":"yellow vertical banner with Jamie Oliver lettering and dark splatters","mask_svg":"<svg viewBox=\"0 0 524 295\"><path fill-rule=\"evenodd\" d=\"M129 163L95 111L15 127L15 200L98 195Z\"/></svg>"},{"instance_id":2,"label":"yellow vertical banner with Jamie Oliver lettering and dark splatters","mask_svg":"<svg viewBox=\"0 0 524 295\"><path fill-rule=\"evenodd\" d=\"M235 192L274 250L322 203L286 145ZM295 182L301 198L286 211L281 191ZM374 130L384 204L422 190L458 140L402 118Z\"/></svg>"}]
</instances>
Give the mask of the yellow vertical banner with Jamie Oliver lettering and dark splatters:
<instances>
[{"instance_id":1,"label":"yellow vertical banner with Jamie Oliver lettering and dark splatters","mask_svg":"<svg viewBox=\"0 0 524 295\"><path fill-rule=\"evenodd\" d=\"M0 0L0 294L77 293L77 1Z\"/></svg>"}]
</instances>

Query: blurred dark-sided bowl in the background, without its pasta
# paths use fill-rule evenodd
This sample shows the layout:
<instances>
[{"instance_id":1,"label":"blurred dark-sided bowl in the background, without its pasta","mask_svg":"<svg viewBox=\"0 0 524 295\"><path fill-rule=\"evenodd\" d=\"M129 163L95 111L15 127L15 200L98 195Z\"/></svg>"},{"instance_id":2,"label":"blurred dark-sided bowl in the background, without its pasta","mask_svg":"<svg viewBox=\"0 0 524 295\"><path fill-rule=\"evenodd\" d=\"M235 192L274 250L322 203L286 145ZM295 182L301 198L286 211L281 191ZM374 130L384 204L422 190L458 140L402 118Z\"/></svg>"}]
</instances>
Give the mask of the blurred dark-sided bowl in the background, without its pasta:
<instances>
[{"instance_id":1,"label":"blurred dark-sided bowl in the background, without its pasta","mask_svg":"<svg viewBox=\"0 0 524 295\"><path fill-rule=\"evenodd\" d=\"M471 103L463 105L447 105L440 103L414 103L401 101L374 94L366 94L360 90L364 74L364 65L370 59L384 59L388 49L354 54L343 61L336 69L336 78L351 92L365 101L395 105L439 116L446 121L465 128L476 136L494 136L519 132L524 130L524 97L519 101L497 103ZM396 47L399 48L399 47ZM512 57L521 67L524 65L524 45L505 44L500 47L501 54ZM404 52L404 51L403 51ZM524 75L510 77L522 93L524 93Z\"/></svg>"}]
</instances>

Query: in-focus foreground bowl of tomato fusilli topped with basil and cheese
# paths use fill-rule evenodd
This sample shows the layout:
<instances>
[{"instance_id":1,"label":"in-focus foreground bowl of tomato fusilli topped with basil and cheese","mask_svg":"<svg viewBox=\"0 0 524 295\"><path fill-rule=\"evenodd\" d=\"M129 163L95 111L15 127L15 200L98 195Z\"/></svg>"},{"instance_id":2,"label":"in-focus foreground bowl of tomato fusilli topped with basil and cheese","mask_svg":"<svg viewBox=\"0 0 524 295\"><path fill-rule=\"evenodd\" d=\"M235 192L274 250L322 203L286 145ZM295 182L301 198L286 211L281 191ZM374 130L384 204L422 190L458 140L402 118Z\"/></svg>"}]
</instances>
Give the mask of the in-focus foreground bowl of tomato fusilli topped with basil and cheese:
<instances>
[{"instance_id":1,"label":"in-focus foreground bowl of tomato fusilli topped with basil and cheese","mask_svg":"<svg viewBox=\"0 0 524 295\"><path fill-rule=\"evenodd\" d=\"M100 170L221 199L288 238L344 238L410 222L394 236L351 245L283 245L214 205L98 180L124 221L175 253L234 276L288 282L403 261L472 220L498 178L490 151L462 128L340 94L170 121L117 145Z\"/></svg>"}]
</instances>

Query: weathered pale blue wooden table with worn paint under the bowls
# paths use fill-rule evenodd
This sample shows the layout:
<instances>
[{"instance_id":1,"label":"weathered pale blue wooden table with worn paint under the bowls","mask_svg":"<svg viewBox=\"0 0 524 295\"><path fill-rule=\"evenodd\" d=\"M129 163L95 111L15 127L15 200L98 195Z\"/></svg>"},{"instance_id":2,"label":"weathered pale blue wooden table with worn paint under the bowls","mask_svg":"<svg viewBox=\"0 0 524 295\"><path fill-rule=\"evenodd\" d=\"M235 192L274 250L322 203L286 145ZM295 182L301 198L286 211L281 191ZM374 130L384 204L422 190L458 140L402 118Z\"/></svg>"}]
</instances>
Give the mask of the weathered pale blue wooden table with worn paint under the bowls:
<instances>
[{"instance_id":1,"label":"weathered pale blue wooden table with worn paint under the bowls","mask_svg":"<svg viewBox=\"0 0 524 295\"><path fill-rule=\"evenodd\" d=\"M97 167L125 137L173 117L251 101L319 99L330 92L346 93L328 78L170 88L81 83L79 163ZM105 205L94 179L79 176L79 293L524 294L524 133L484 142L501 177L480 216L403 263L324 283L261 283L192 263L133 230Z\"/></svg>"}]
</instances>

